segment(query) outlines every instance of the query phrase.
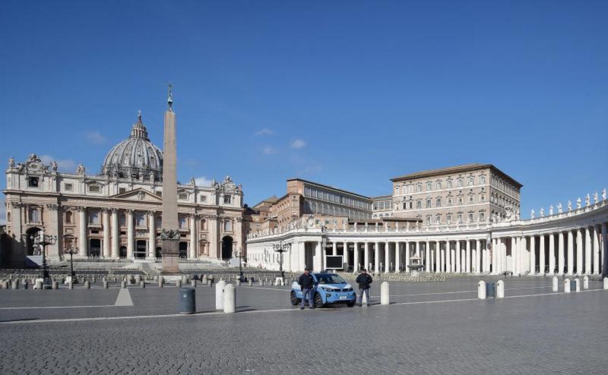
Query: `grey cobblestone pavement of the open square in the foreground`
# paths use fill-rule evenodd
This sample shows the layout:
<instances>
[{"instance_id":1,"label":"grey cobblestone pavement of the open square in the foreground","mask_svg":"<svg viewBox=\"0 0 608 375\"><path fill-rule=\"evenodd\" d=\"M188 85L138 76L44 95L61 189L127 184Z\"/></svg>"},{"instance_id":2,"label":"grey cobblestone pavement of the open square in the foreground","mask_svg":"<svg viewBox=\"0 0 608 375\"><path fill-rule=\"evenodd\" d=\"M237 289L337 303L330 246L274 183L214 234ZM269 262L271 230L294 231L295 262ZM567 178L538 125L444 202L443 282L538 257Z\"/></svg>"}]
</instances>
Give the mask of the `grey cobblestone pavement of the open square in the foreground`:
<instances>
[{"instance_id":1,"label":"grey cobblestone pavement of the open square in the foreground","mask_svg":"<svg viewBox=\"0 0 608 375\"><path fill-rule=\"evenodd\" d=\"M548 278L515 278L514 298L481 301L477 280L391 284L393 304L370 308L300 311L288 287L264 286L238 288L230 315L170 315L176 289L153 287L130 288L128 307L2 309L0 373L603 373L608 291L553 294ZM111 305L117 294L0 291L0 303ZM213 310L212 288L196 295ZM36 322L82 317L117 318Z\"/></svg>"}]
</instances>

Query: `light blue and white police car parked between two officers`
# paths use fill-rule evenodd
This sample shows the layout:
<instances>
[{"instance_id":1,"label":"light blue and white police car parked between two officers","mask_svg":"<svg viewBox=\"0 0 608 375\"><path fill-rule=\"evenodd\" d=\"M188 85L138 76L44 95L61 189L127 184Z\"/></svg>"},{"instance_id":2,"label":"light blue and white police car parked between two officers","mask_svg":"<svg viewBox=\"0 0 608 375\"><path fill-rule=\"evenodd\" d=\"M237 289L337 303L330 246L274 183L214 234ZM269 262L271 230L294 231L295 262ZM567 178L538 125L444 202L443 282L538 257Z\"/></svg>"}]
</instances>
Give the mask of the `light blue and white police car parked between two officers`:
<instances>
[{"instance_id":1,"label":"light blue and white police car parked between two officers","mask_svg":"<svg viewBox=\"0 0 608 375\"><path fill-rule=\"evenodd\" d=\"M328 272L318 272L313 275L314 280L314 307L322 308L327 304L346 303L348 307L353 307L357 301L357 294L353 286L348 284L340 275ZM302 287L295 280L291 284L289 294L291 304L296 306L302 301Z\"/></svg>"}]
</instances>

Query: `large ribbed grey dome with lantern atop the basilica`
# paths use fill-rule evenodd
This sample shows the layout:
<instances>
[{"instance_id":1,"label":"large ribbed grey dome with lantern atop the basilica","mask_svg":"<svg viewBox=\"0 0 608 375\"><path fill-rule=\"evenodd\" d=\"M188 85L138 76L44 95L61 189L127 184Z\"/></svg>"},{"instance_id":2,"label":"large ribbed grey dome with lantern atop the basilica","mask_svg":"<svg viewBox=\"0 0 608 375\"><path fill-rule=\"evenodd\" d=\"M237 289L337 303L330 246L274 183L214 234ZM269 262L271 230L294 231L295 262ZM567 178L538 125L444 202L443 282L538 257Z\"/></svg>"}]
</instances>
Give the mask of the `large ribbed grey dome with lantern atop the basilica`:
<instances>
[{"instance_id":1,"label":"large ribbed grey dome with lantern atop the basilica","mask_svg":"<svg viewBox=\"0 0 608 375\"><path fill-rule=\"evenodd\" d=\"M162 180L162 151L150 142L141 112L133 124L131 136L112 147L106 155L102 173L110 177Z\"/></svg>"}]
</instances>

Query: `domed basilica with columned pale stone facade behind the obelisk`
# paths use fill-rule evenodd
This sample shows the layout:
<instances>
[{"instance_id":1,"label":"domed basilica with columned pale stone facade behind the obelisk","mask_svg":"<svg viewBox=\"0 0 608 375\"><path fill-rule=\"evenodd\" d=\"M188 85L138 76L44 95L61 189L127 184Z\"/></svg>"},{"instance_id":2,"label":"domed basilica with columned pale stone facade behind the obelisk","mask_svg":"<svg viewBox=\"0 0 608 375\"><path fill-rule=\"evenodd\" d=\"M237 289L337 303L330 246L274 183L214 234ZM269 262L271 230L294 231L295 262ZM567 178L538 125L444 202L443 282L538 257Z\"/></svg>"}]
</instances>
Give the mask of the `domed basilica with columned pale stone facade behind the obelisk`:
<instances>
[{"instance_id":1,"label":"domed basilica with columned pale stone facade behind the obelisk","mask_svg":"<svg viewBox=\"0 0 608 375\"><path fill-rule=\"evenodd\" d=\"M58 171L30 154L6 170L8 264L22 266L38 252L31 236L41 230L57 235L47 256L156 260L161 257L163 153L148 138L139 114L130 136L114 146L99 173L84 165L74 173ZM243 189L230 177L197 186L178 184L181 258L227 259L243 250ZM5 260L7 261L7 260Z\"/></svg>"}]
</instances>

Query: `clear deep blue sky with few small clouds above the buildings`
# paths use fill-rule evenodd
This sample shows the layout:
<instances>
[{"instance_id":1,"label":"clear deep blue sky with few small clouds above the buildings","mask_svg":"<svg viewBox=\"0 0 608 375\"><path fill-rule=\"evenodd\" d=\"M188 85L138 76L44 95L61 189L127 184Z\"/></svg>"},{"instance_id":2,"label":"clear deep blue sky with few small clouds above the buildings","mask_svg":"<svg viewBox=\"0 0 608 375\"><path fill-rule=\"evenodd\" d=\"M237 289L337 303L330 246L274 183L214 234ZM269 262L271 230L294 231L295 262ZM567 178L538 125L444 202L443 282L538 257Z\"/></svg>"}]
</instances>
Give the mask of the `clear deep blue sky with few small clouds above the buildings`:
<instances>
[{"instance_id":1,"label":"clear deep blue sky with few small clouds above the buildings","mask_svg":"<svg viewBox=\"0 0 608 375\"><path fill-rule=\"evenodd\" d=\"M527 217L608 186L607 17L606 1L2 1L0 161L97 172L138 109L161 146L173 81L181 181L229 174L255 204L288 177L373 196L493 163Z\"/></svg>"}]
</instances>

